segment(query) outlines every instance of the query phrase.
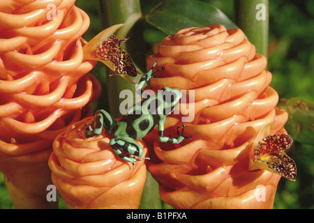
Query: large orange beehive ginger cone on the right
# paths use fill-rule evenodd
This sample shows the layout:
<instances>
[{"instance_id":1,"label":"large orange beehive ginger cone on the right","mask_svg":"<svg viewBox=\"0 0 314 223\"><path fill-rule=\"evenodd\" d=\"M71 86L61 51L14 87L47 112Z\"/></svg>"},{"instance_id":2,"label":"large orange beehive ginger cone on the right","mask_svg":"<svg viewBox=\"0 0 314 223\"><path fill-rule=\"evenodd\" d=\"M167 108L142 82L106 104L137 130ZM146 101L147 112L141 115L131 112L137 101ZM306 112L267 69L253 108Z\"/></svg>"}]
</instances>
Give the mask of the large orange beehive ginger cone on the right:
<instances>
[{"instance_id":1,"label":"large orange beehive ginger cone on the right","mask_svg":"<svg viewBox=\"0 0 314 223\"><path fill-rule=\"evenodd\" d=\"M158 73L162 78L151 79L154 91L167 86L185 91L186 98L193 95L181 101L179 114L167 117L165 135L176 134L189 107L194 112L184 123L192 141L163 144L158 132L145 138L154 149L148 170L163 201L175 208L272 208L281 176L250 165L253 143L265 125L271 123L269 134L287 134L287 113L276 108L267 59L240 29L218 24L165 37L148 68L155 62L156 69L165 69ZM260 186L262 201L256 195Z\"/></svg>"}]
</instances>

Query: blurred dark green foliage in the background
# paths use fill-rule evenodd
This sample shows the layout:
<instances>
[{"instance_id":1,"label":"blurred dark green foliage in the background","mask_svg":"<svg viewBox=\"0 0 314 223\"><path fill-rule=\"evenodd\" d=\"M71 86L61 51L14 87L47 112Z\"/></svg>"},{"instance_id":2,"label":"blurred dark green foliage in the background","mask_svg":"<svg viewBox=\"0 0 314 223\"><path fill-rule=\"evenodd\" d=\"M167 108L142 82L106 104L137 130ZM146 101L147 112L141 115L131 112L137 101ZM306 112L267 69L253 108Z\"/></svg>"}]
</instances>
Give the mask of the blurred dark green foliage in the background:
<instances>
[{"instance_id":1,"label":"blurred dark green foliage in the background","mask_svg":"<svg viewBox=\"0 0 314 223\"><path fill-rule=\"evenodd\" d=\"M223 11L234 20L233 0L204 0ZM142 13L147 13L160 0L141 0ZM83 38L91 40L102 30L98 17L98 0L77 0L90 17L91 25ZM314 100L314 1L269 1L269 55L268 70L272 73L271 86L280 98L298 97ZM164 33L144 23L144 39L147 52L151 45L159 43ZM94 109L107 108L106 77L103 65L98 63L91 73L103 86L101 97L94 102ZM110 96L110 93L108 94ZM313 136L314 137L314 136ZM276 193L274 208L314 208L314 146L295 142L288 155L297 163L296 182L281 179ZM0 174L0 208L13 208ZM65 208L61 201L61 208Z\"/></svg>"}]
</instances>

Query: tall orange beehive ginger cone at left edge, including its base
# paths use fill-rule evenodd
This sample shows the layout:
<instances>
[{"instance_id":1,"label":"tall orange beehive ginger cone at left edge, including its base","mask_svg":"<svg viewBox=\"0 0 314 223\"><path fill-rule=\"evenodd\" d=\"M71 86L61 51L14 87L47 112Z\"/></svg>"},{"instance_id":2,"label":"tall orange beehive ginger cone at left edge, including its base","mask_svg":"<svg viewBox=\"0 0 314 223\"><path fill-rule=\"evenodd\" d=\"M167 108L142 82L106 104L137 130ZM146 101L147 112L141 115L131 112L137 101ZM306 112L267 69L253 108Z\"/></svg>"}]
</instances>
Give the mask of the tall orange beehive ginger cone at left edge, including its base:
<instances>
[{"instance_id":1,"label":"tall orange beehive ginger cone at left edge, including its base","mask_svg":"<svg viewBox=\"0 0 314 223\"><path fill-rule=\"evenodd\" d=\"M96 62L83 55L89 17L74 3L1 2L0 171L15 208L52 205L46 200L52 141L89 116L100 93L89 74Z\"/></svg>"}]
</instances>

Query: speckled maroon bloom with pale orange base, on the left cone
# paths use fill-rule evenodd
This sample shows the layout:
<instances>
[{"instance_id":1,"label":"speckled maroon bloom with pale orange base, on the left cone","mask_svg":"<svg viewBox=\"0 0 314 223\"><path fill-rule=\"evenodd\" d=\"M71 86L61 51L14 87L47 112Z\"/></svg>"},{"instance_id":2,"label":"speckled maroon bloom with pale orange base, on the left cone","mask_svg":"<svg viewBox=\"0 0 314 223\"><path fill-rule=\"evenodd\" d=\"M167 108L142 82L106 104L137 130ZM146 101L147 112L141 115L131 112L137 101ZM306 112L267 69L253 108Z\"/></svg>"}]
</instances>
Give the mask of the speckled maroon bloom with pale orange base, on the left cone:
<instances>
[{"instance_id":1,"label":"speckled maroon bloom with pale orange base, on the left cone","mask_svg":"<svg viewBox=\"0 0 314 223\"><path fill-rule=\"evenodd\" d=\"M128 39L120 40L113 35L121 26L124 24L110 26L84 45L84 60L100 61L114 71L110 76L120 75L130 81L126 76L135 77L137 70L128 53L121 47Z\"/></svg>"}]
</instances>

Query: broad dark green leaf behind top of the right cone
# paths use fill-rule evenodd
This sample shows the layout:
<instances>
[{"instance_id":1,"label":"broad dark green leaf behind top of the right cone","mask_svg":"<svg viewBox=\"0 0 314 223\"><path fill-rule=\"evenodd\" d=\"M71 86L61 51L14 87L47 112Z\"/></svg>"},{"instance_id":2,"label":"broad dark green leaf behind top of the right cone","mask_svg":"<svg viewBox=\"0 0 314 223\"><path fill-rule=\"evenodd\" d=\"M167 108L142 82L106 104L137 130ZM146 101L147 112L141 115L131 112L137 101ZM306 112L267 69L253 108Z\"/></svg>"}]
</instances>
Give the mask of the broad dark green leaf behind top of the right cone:
<instances>
[{"instance_id":1,"label":"broad dark green leaf behind top of the right cone","mask_svg":"<svg viewBox=\"0 0 314 223\"><path fill-rule=\"evenodd\" d=\"M167 35L187 27L211 24L223 24L227 29L237 28L221 10L209 3L195 0L164 1L147 13L146 20Z\"/></svg>"}]
</instances>

